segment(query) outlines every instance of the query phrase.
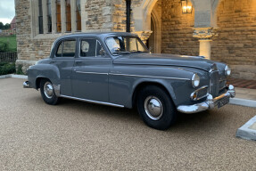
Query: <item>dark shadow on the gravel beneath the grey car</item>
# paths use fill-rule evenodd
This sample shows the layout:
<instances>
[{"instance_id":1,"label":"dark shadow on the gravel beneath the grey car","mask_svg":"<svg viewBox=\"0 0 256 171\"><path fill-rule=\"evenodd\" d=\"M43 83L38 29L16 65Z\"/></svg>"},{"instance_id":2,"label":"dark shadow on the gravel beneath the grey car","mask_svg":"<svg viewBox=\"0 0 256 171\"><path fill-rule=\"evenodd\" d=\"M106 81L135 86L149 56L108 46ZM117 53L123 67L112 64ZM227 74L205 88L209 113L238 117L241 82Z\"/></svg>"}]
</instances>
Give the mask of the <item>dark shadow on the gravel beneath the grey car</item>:
<instances>
[{"instance_id":1,"label":"dark shadow on the gravel beneath the grey car","mask_svg":"<svg viewBox=\"0 0 256 171\"><path fill-rule=\"evenodd\" d=\"M35 101L39 102L39 98L40 97L38 96ZM43 100L40 100L40 103L41 102L43 102ZM75 109L82 115L93 113L93 115L96 117L111 117L115 120L125 120L133 123L133 125L143 124L143 121L136 109L117 108L70 99L62 99L56 107L64 110ZM212 127L216 125L223 126L223 123L227 121L228 117L227 115L223 115L223 113L224 112L221 113L220 110L206 110L194 114L184 114L178 112L177 122L173 126L170 126L166 132L172 132L174 130L178 132L186 131L187 134L194 133L194 130L204 130L205 132L208 132L209 129L212 129ZM76 114L76 112L74 111L72 114Z\"/></svg>"}]
</instances>

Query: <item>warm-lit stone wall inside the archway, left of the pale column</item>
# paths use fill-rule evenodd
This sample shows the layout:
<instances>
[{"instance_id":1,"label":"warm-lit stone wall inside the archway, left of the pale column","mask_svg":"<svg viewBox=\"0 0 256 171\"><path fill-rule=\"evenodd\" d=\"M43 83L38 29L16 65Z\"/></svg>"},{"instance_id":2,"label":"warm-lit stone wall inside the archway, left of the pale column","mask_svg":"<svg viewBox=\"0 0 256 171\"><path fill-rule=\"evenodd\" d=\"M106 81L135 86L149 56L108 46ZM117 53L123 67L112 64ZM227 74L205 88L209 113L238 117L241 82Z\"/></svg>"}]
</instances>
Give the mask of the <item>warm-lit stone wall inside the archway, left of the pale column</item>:
<instances>
[{"instance_id":1,"label":"warm-lit stone wall inside the archway, left of the pale column","mask_svg":"<svg viewBox=\"0 0 256 171\"><path fill-rule=\"evenodd\" d=\"M199 42L193 37L194 12L183 14L180 0L162 0L163 53L198 55Z\"/></svg>"}]
</instances>

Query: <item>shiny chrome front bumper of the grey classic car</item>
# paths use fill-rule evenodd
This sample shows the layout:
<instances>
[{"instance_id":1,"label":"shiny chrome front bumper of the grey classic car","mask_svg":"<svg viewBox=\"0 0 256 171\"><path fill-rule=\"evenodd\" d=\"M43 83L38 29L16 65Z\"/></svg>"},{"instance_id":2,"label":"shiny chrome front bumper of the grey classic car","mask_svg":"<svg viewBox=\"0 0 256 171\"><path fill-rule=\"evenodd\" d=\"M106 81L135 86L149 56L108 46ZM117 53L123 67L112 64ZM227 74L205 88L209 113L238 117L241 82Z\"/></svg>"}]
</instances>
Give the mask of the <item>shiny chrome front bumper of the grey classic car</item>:
<instances>
[{"instance_id":1,"label":"shiny chrome front bumper of the grey classic car","mask_svg":"<svg viewBox=\"0 0 256 171\"><path fill-rule=\"evenodd\" d=\"M221 94L218 97L213 98L211 94L207 96L207 100L205 102L200 102L194 105L180 105L177 110L182 113L197 113L204 110L211 110L218 103L225 98L234 98L235 97L235 87L233 85L229 85L226 94Z\"/></svg>"}]
</instances>

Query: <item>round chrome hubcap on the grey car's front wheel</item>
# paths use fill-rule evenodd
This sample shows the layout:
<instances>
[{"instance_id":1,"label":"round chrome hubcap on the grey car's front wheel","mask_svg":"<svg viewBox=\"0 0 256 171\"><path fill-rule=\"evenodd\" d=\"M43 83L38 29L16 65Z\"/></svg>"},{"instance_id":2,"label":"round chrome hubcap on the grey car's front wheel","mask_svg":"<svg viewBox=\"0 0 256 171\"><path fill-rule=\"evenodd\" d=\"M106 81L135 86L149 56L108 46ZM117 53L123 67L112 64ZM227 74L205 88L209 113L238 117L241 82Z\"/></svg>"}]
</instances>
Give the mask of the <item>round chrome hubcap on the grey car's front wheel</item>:
<instances>
[{"instance_id":1,"label":"round chrome hubcap on the grey car's front wheel","mask_svg":"<svg viewBox=\"0 0 256 171\"><path fill-rule=\"evenodd\" d=\"M154 96L148 96L144 102L145 113L149 118L153 120L159 120L162 116L162 104L161 101Z\"/></svg>"}]
</instances>

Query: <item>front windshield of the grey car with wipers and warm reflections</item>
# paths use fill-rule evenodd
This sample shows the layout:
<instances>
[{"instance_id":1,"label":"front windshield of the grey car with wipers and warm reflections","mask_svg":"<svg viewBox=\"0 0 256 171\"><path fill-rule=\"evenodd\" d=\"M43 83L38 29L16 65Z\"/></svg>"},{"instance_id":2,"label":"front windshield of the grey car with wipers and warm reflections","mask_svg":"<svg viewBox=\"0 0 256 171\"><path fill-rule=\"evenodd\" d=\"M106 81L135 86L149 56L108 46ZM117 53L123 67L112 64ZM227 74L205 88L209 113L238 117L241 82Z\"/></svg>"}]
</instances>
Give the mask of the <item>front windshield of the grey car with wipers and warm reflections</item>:
<instances>
[{"instance_id":1,"label":"front windshield of the grey car with wipers and warm reflections","mask_svg":"<svg viewBox=\"0 0 256 171\"><path fill-rule=\"evenodd\" d=\"M122 53L149 53L138 37L109 37L106 45L113 55Z\"/></svg>"}]
</instances>

